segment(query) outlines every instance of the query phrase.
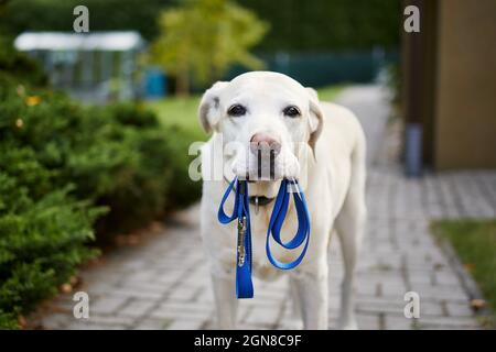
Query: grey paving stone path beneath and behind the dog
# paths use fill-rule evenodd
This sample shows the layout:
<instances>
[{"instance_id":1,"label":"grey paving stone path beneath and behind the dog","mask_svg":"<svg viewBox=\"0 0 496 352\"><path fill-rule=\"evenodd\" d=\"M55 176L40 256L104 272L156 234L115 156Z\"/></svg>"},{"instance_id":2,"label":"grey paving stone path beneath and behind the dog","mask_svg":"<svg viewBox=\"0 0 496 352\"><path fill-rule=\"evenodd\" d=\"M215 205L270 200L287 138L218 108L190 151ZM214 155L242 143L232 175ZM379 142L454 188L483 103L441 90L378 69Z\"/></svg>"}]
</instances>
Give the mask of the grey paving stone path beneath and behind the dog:
<instances>
[{"instance_id":1,"label":"grey paving stone path beneath and behind the dog","mask_svg":"<svg viewBox=\"0 0 496 352\"><path fill-rule=\"evenodd\" d=\"M465 289L450 257L429 232L432 219L496 217L496 172L427 174L407 179L391 161L387 96L378 87L346 89L338 102L359 117L369 142L368 231L358 265L357 320L362 329L477 329ZM35 318L46 329L208 329L214 327L208 270L203 263L193 207L159 234L118 249L82 273L90 318L73 317L72 294L61 295ZM337 238L331 249L330 328L336 326L342 264ZM282 329L290 315L284 278L256 280L244 300L239 327ZM420 318L407 319L405 293L420 295Z\"/></svg>"}]
</instances>

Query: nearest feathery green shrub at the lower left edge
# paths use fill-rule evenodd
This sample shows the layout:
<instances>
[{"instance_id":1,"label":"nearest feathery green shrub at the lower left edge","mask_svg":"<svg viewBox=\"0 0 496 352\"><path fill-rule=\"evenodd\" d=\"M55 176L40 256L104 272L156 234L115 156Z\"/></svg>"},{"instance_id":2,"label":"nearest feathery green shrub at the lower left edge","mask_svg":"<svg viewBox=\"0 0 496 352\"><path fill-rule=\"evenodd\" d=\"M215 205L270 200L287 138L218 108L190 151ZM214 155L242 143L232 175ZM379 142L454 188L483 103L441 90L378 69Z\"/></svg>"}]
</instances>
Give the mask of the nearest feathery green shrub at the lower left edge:
<instances>
[{"instance_id":1,"label":"nearest feathery green shrub at the lower left edge","mask_svg":"<svg viewBox=\"0 0 496 352\"><path fill-rule=\"evenodd\" d=\"M68 194L30 189L31 175L47 183L50 173L28 150L2 151L0 157L0 328L17 327L29 312L74 275L77 265L97 252L85 245L103 209ZM25 185L22 185L25 183Z\"/></svg>"}]
</instances>

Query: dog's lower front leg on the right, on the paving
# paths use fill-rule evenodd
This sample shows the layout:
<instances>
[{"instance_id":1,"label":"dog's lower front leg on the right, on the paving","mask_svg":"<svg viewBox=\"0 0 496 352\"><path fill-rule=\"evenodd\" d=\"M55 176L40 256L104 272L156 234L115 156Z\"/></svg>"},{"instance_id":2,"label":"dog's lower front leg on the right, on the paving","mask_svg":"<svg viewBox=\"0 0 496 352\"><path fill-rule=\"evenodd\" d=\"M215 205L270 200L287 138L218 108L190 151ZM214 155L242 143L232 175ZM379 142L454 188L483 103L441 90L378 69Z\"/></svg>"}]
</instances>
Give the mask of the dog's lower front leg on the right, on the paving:
<instances>
[{"instance_id":1,"label":"dog's lower front leg on the right, on the paving","mask_svg":"<svg viewBox=\"0 0 496 352\"><path fill-rule=\"evenodd\" d=\"M299 300L303 318L303 329L325 330L327 322L328 306L328 280L327 267L321 273L292 273L290 276L292 293Z\"/></svg>"}]
</instances>

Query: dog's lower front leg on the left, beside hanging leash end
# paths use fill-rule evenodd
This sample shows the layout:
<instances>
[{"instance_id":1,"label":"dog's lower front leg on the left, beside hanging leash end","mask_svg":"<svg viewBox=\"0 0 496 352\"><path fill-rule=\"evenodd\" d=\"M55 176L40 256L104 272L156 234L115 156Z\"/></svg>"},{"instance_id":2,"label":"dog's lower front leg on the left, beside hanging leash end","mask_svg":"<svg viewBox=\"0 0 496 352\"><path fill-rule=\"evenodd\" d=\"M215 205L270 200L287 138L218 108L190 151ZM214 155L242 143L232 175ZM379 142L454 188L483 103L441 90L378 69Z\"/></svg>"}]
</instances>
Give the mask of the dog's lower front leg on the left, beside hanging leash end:
<instances>
[{"instance_id":1,"label":"dog's lower front leg on the left, beside hanging leash end","mask_svg":"<svg viewBox=\"0 0 496 352\"><path fill-rule=\"evenodd\" d=\"M230 330L236 327L238 302L235 292L234 273L212 273L215 306L217 311L217 328Z\"/></svg>"}]
</instances>

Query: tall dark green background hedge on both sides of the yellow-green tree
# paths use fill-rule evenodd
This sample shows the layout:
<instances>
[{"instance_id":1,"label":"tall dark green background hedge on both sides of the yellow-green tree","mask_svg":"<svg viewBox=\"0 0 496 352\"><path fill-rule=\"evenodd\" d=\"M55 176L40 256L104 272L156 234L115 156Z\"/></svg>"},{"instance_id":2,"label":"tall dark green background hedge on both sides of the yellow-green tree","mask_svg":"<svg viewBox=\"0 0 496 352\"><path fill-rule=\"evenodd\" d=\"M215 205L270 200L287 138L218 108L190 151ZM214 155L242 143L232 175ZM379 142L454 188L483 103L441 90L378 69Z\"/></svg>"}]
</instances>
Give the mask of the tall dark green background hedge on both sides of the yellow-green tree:
<instances>
[{"instance_id":1,"label":"tall dark green background hedge on both sides of the yellow-green tree","mask_svg":"<svg viewBox=\"0 0 496 352\"><path fill-rule=\"evenodd\" d=\"M3 33L72 31L73 9L88 7L90 30L137 30L147 40L159 35L160 10L182 0L9 0ZM399 46L401 0L238 0L270 23L258 46L262 52L322 52ZM111 15L108 15L111 13ZM151 20L155 19L155 21Z\"/></svg>"}]
</instances>

